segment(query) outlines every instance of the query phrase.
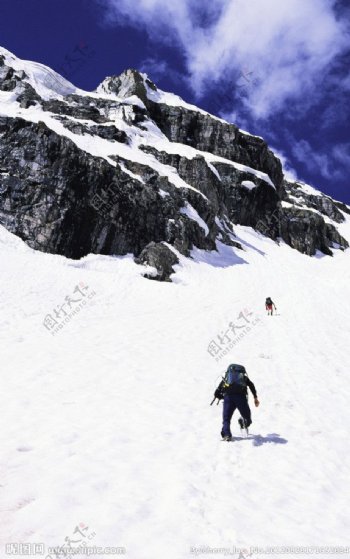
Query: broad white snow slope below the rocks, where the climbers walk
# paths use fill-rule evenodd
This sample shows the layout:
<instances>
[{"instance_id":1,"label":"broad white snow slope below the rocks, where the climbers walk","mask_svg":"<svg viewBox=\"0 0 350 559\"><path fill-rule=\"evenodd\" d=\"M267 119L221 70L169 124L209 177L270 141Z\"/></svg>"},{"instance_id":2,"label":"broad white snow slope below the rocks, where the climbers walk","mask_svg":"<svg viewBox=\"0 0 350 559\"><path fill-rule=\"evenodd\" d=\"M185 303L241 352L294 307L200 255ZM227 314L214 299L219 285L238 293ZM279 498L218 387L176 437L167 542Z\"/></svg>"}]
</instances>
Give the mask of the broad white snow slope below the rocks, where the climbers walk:
<instances>
[{"instance_id":1,"label":"broad white snow slope below the rocks, where the climbers walk","mask_svg":"<svg viewBox=\"0 0 350 559\"><path fill-rule=\"evenodd\" d=\"M72 261L1 228L1 557L10 541L137 559L348 544L349 251L307 258L248 227L235 235L244 252L179 254L159 284L130 255ZM52 335L43 321L64 302L76 315ZM244 335L210 355L230 322ZM236 440L222 443L209 403L230 362L261 405L248 439L235 414Z\"/></svg>"}]
</instances>

